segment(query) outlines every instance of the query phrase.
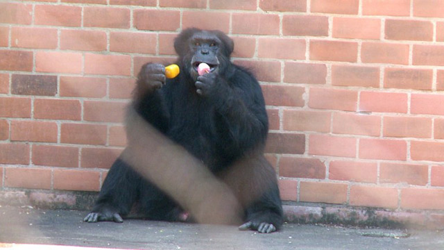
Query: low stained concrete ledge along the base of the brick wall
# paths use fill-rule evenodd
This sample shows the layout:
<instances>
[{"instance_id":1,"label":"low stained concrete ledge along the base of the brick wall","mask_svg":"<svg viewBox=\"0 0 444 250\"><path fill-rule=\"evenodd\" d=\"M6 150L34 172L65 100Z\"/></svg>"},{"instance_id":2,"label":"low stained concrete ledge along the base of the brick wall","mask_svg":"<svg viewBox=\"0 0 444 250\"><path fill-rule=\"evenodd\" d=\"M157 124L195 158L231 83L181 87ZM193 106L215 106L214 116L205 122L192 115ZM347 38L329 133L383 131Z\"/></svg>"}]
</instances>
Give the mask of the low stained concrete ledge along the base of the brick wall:
<instances>
[{"instance_id":1,"label":"low stained concrete ledge along the base of the brick wall","mask_svg":"<svg viewBox=\"0 0 444 250\"><path fill-rule=\"evenodd\" d=\"M2 191L0 205L33 206L48 209L90 210L97 192L77 191ZM287 222L300 224L336 224L346 226L377 226L384 228L444 228L444 211L384 210L337 206L324 203L286 203Z\"/></svg>"}]
</instances>

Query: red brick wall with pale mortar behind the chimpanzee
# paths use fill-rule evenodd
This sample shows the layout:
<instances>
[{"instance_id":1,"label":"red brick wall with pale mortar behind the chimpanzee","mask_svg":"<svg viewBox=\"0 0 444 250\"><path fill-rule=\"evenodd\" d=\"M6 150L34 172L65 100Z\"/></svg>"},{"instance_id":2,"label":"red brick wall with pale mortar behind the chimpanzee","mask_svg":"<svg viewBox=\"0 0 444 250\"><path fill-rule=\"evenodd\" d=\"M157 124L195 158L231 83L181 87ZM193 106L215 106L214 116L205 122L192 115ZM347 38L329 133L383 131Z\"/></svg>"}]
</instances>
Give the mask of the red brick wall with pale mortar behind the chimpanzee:
<instances>
[{"instance_id":1,"label":"red brick wall with pale mortar behind the chimpanzee","mask_svg":"<svg viewBox=\"0 0 444 250\"><path fill-rule=\"evenodd\" d=\"M191 26L235 41L266 98L282 199L444 210L444 1L0 3L0 187L97 191L135 75ZM46 190L46 191L45 191Z\"/></svg>"}]
</instances>

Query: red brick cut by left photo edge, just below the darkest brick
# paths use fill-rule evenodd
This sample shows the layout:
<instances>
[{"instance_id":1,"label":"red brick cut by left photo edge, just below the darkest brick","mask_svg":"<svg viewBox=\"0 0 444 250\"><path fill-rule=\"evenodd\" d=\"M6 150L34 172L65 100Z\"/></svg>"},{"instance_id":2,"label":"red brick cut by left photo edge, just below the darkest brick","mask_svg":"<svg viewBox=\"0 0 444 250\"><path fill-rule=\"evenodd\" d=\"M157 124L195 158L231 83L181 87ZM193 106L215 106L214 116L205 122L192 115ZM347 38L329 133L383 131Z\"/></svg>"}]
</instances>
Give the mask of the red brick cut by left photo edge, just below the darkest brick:
<instances>
[{"instance_id":1,"label":"red brick cut by left photo edge, just below the darkest brick","mask_svg":"<svg viewBox=\"0 0 444 250\"><path fill-rule=\"evenodd\" d=\"M31 99L0 97L0 117L31 117Z\"/></svg>"}]
</instances>

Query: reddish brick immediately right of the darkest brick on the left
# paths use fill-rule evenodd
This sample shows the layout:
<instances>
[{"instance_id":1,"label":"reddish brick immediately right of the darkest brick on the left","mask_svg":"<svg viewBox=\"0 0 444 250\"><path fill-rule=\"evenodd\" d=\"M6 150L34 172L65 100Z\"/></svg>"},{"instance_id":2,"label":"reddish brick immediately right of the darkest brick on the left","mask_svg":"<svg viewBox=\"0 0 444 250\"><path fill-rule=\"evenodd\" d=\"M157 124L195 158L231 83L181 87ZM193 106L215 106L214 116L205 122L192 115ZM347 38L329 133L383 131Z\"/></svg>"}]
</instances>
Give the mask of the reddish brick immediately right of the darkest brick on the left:
<instances>
[{"instance_id":1,"label":"reddish brick immediately right of the darkest brick on the left","mask_svg":"<svg viewBox=\"0 0 444 250\"><path fill-rule=\"evenodd\" d=\"M60 76L60 97L106 96L106 79L86 76Z\"/></svg>"}]
</instances>

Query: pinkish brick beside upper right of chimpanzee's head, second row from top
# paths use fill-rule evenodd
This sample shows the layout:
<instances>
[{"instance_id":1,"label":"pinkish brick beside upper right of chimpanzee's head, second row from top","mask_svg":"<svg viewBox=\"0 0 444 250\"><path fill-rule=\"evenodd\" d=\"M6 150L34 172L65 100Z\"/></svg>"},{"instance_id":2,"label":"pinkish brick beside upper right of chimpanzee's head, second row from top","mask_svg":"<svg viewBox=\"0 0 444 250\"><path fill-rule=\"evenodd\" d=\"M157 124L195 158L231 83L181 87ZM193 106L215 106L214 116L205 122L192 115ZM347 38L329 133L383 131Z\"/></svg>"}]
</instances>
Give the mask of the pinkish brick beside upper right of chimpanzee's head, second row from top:
<instances>
[{"instance_id":1,"label":"pinkish brick beside upper right of chimpanzee's head, second row from top","mask_svg":"<svg viewBox=\"0 0 444 250\"><path fill-rule=\"evenodd\" d=\"M232 14L233 34L279 35L279 25L279 15L259 13Z\"/></svg>"}]
</instances>

